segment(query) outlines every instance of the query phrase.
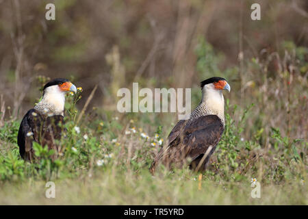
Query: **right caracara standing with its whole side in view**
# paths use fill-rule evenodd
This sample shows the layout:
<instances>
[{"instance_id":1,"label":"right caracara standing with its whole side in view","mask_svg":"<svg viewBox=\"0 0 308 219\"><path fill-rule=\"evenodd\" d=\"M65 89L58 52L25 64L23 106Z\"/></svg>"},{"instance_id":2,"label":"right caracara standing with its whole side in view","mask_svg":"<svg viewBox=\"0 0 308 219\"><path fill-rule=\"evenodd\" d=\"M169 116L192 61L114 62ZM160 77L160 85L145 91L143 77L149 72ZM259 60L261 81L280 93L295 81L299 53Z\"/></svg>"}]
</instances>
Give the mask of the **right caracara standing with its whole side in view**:
<instances>
[{"instance_id":1,"label":"right caracara standing with its whole side in view","mask_svg":"<svg viewBox=\"0 0 308 219\"><path fill-rule=\"evenodd\" d=\"M151 166L159 163L167 168L189 164L193 170L205 170L224 131L224 96L230 92L229 83L222 77L211 77L201 82L201 103L188 120L179 120L160 149Z\"/></svg>"}]
</instances>

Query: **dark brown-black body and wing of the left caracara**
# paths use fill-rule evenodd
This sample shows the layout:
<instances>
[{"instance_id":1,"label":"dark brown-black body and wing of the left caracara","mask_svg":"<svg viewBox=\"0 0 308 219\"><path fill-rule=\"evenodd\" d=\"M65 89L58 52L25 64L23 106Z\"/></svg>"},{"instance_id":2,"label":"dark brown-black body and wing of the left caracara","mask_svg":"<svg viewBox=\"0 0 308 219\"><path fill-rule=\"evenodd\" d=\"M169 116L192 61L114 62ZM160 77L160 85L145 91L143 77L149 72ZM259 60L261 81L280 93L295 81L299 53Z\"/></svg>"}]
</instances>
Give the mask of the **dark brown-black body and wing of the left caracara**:
<instances>
[{"instance_id":1,"label":"dark brown-black body and wing of the left caracara","mask_svg":"<svg viewBox=\"0 0 308 219\"><path fill-rule=\"evenodd\" d=\"M62 122L63 116L49 116L44 119L38 111L29 110L23 117L18 131L17 144L21 157L29 161L34 159L34 141L42 146L47 145L49 149L56 149L55 140L61 138L62 127L59 124Z\"/></svg>"}]
</instances>

